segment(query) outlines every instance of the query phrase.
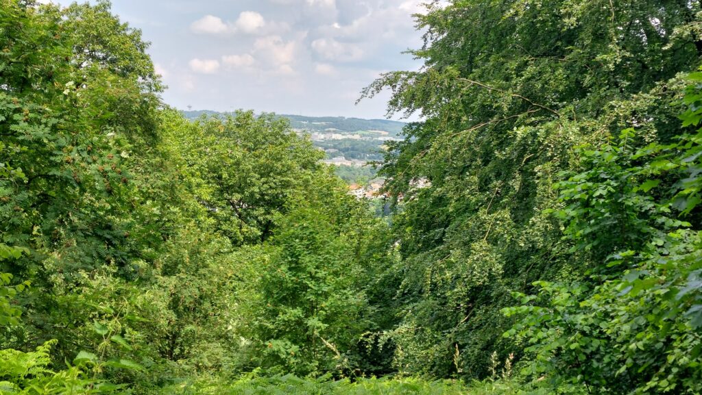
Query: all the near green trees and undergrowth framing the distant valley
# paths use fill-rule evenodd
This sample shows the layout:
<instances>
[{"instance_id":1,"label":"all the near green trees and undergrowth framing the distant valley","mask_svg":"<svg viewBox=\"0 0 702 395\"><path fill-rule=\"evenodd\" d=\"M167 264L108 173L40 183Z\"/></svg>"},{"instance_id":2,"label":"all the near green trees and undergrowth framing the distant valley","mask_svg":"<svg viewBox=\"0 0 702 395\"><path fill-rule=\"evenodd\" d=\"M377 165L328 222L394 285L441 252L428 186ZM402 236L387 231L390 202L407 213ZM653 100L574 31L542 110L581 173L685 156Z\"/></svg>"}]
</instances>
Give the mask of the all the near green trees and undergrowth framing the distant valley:
<instances>
[{"instance_id":1,"label":"all the near green trees and undergrowth framing the distant valley","mask_svg":"<svg viewBox=\"0 0 702 395\"><path fill-rule=\"evenodd\" d=\"M415 17L379 217L108 1L0 0L0 393L701 394L702 4Z\"/></svg>"}]
</instances>

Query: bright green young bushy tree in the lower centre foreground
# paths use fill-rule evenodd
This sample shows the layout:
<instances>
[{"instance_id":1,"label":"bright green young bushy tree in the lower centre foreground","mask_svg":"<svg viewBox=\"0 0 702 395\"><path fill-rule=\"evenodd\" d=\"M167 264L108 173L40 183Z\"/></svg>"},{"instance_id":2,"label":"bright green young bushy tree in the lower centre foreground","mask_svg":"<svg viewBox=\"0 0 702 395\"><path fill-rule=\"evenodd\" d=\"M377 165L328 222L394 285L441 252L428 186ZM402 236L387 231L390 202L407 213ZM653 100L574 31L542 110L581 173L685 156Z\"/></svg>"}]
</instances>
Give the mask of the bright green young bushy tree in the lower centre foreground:
<instances>
[{"instance_id":1,"label":"bright green young bushy tree in the lower centre foreground","mask_svg":"<svg viewBox=\"0 0 702 395\"><path fill-rule=\"evenodd\" d=\"M366 304L352 243L318 210L296 210L285 221L256 287L265 295L253 321L263 355L300 374L348 368L342 353L364 331Z\"/></svg>"}]
</instances>

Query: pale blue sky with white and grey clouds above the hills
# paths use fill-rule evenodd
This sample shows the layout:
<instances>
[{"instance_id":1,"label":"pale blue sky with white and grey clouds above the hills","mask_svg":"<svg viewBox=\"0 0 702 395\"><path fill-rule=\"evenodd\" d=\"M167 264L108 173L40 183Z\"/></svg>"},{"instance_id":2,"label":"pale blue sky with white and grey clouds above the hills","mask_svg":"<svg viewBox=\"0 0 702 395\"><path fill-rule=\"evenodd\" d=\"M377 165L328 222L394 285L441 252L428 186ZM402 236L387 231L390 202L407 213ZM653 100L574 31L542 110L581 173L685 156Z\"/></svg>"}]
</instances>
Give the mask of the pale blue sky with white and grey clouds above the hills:
<instances>
[{"instance_id":1,"label":"pale blue sky with white and grey clouds above the hills","mask_svg":"<svg viewBox=\"0 0 702 395\"><path fill-rule=\"evenodd\" d=\"M402 52L421 45L411 15L423 9L421 0L112 1L151 42L168 105L361 118L384 118L388 100L355 105L364 86L420 67Z\"/></svg>"}]
</instances>

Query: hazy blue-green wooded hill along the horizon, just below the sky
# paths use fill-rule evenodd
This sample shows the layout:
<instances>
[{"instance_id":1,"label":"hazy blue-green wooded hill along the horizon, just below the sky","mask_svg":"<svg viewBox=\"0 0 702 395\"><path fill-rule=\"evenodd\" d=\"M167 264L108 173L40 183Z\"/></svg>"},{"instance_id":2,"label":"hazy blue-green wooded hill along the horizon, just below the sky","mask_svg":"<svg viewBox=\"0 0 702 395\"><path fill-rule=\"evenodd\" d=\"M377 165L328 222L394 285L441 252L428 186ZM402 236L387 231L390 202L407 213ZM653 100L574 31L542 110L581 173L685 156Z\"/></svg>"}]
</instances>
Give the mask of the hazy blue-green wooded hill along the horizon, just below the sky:
<instances>
[{"instance_id":1,"label":"hazy blue-green wooded hill along the horizon, just below the sky","mask_svg":"<svg viewBox=\"0 0 702 395\"><path fill-rule=\"evenodd\" d=\"M215 111L184 111L183 114L188 119L197 119L203 114L222 114ZM361 119L346 118L344 116L302 116L280 114L290 120L290 124L295 129L309 130L310 132L357 132L362 130L382 130L388 132L390 136L396 136L406 125L404 122L389 121L388 119Z\"/></svg>"}]
</instances>

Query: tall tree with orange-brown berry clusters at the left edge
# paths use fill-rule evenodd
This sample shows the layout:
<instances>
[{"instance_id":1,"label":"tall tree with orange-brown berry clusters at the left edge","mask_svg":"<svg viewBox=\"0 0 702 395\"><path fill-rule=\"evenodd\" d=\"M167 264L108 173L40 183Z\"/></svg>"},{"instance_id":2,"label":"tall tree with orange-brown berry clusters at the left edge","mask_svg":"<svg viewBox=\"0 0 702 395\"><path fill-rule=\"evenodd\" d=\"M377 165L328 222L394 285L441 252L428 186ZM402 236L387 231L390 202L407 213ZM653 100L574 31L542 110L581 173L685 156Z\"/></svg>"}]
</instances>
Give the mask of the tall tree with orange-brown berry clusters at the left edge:
<instances>
[{"instance_id":1,"label":"tall tree with orange-brown berry clusters at the left edge","mask_svg":"<svg viewBox=\"0 0 702 395\"><path fill-rule=\"evenodd\" d=\"M150 139L159 90L140 34L104 1L63 10L4 1L2 10L0 162L18 179L0 182L1 231L37 252L8 269L38 274L41 286L95 262L127 274L128 152Z\"/></svg>"}]
</instances>

